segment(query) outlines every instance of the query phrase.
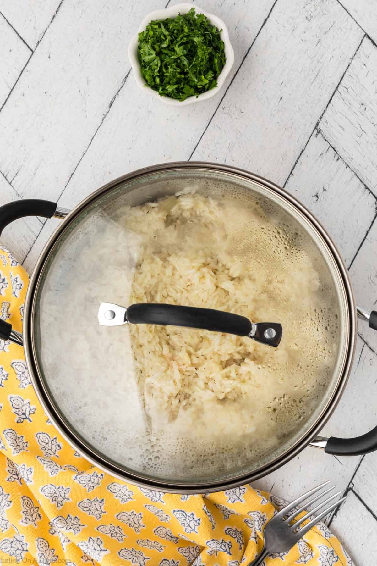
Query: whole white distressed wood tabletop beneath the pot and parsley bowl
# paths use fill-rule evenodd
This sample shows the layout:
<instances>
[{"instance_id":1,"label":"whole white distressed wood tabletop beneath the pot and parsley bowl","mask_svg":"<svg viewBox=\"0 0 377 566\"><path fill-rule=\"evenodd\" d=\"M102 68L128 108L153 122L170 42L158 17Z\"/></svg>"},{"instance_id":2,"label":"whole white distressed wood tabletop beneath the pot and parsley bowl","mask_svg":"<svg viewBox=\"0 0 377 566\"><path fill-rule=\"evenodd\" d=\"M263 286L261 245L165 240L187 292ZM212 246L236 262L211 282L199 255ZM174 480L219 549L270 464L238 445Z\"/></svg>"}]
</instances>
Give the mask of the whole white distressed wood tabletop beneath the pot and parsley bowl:
<instances>
[{"instance_id":1,"label":"whole white distressed wood tabletop beneath the pot and parsley bowl","mask_svg":"<svg viewBox=\"0 0 377 566\"><path fill-rule=\"evenodd\" d=\"M227 23L235 66L217 96L183 108L159 103L128 75L129 38L164 3L0 0L0 205L21 196L71 208L145 165L227 162L306 204L350 266L357 302L377 308L375 2L198 0ZM19 220L1 242L31 271L57 225ZM377 424L377 333L360 323L359 334L327 436ZM358 566L375 566L376 458L308 447L255 486L290 499L332 479L348 500L331 528Z\"/></svg>"}]
</instances>

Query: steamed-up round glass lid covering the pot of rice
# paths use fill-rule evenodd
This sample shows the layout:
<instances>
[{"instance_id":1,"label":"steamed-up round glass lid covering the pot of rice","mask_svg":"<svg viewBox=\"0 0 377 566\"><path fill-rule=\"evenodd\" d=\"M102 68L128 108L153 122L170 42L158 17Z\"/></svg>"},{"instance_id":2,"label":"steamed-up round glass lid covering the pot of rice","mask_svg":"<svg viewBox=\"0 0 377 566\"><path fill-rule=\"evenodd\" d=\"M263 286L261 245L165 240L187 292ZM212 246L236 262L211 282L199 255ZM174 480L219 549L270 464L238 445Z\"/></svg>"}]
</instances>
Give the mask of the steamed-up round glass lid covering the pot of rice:
<instances>
[{"instance_id":1,"label":"steamed-up round glass lid covering the pot of rice","mask_svg":"<svg viewBox=\"0 0 377 566\"><path fill-rule=\"evenodd\" d=\"M106 306L110 325L101 303L122 307ZM181 168L76 214L42 267L32 339L72 439L125 477L189 487L250 474L307 434L340 379L346 309L330 251L288 200ZM253 339L259 323L281 324L278 346Z\"/></svg>"}]
</instances>

